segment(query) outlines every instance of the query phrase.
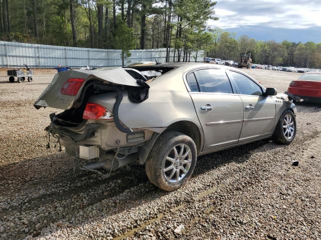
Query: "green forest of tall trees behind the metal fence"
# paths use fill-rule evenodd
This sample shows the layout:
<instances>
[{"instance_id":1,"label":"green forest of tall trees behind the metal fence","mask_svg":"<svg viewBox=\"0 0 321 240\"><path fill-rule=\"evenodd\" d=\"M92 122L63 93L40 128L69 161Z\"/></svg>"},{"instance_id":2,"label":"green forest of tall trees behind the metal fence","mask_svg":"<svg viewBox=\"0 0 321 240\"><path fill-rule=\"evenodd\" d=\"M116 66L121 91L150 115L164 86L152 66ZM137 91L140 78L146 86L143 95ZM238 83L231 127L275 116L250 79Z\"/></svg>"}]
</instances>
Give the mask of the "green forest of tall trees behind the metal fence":
<instances>
[{"instance_id":1,"label":"green forest of tall trees behind the metal fence","mask_svg":"<svg viewBox=\"0 0 321 240\"><path fill-rule=\"evenodd\" d=\"M191 50L254 63L321 67L321 43L257 41L210 28L211 0L0 0L1 39L50 45L129 49L167 48L186 61ZM181 49L181 50L178 50Z\"/></svg>"}]
</instances>

